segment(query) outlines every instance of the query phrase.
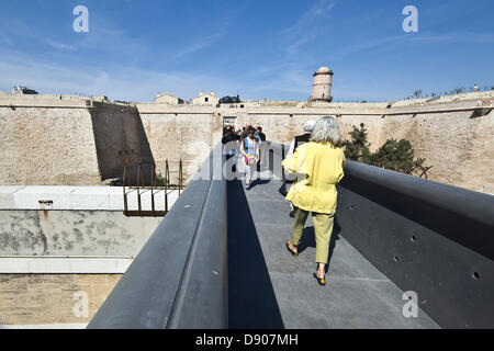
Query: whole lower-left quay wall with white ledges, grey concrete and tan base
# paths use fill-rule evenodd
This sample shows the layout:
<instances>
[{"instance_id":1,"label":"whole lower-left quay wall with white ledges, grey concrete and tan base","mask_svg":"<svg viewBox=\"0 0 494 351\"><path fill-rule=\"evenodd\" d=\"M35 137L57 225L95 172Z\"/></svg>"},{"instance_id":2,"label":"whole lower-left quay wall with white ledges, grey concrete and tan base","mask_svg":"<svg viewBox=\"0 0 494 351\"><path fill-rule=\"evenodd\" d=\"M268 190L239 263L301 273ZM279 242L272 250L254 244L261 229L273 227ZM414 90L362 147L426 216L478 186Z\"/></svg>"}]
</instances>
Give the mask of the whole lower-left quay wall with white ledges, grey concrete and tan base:
<instances>
[{"instance_id":1,"label":"whole lower-left quay wall with white ledges, grey concrete and tan base","mask_svg":"<svg viewBox=\"0 0 494 351\"><path fill-rule=\"evenodd\" d=\"M40 199L59 210L26 210ZM0 188L0 329L89 322L162 219L105 210L122 201L113 186ZM87 317L74 314L78 292L88 296Z\"/></svg>"}]
</instances>

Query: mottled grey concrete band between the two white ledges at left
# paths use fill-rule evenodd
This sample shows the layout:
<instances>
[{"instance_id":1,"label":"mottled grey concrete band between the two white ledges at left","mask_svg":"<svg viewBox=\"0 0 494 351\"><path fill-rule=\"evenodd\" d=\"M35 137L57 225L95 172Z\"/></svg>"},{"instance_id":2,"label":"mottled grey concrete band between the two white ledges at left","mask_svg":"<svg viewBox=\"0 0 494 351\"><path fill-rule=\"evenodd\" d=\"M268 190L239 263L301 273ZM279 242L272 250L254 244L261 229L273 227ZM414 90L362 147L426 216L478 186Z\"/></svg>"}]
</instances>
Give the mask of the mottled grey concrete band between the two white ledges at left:
<instances>
[{"instance_id":1,"label":"mottled grey concrete band between the two white ledges at left","mask_svg":"<svg viewBox=\"0 0 494 351\"><path fill-rule=\"evenodd\" d=\"M160 220L110 211L0 211L0 256L135 257Z\"/></svg>"}]
</instances>

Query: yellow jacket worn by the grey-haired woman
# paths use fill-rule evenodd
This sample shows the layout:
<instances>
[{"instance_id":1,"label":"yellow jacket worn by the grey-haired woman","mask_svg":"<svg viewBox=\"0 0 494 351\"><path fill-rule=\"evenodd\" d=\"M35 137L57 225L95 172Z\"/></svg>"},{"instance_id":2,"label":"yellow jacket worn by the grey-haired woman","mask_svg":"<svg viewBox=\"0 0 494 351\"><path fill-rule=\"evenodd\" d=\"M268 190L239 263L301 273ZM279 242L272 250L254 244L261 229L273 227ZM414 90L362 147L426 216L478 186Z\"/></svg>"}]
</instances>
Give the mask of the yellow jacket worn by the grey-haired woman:
<instances>
[{"instance_id":1,"label":"yellow jacket worn by the grey-haired woman","mask_svg":"<svg viewBox=\"0 0 494 351\"><path fill-rule=\"evenodd\" d=\"M302 174L287 195L294 206L318 213L336 212L336 186L344 177L345 155L333 144L306 143L281 165L290 173ZM299 177L300 179L300 177Z\"/></svg>"}]
</instances>

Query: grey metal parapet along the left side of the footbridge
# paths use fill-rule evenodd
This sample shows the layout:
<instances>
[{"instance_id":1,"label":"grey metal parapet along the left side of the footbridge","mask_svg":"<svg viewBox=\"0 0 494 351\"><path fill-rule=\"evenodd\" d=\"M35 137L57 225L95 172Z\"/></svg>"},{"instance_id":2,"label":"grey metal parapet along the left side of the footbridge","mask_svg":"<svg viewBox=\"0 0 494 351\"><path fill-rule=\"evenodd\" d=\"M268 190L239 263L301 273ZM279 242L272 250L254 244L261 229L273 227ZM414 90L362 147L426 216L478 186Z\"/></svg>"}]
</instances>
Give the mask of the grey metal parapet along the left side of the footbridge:
<instances>
[{"instance_id":1,"label":"grey metal parapet along the left side of the footbridge","mask_svg":"<svg viewBox=\"0 0 494 351\"><path fill-rule=\"evenodd\" d=\"M224 161L216 145L88 328L227 328Z\"/></svg>"}]
</instances>

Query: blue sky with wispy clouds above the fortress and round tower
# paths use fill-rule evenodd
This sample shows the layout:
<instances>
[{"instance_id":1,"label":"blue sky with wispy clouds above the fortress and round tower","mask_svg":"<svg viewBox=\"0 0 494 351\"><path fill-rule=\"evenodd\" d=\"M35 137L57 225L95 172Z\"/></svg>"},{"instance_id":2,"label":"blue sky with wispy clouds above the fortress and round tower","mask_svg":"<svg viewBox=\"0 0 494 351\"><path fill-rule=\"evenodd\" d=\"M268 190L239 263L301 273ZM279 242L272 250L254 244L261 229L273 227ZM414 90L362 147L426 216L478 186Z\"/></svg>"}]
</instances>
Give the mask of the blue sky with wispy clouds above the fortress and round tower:
<instances>
[{"instance_id":1,"label":"blue sky with wispy clouds above the fortress and round tower","mask_svg":"<svg viewBox=\"0 0 494 351\"><path fill-rule=\"evenodd\" d=\"M89 32L76 33L76 5ZM405 33L405 5L418 32ZM494 86L494 1L2 1L0 90L189 100L200 91L307 100L319 66L336 101Z\"/></svg>"}]
</instances>

